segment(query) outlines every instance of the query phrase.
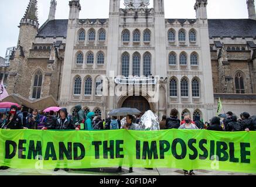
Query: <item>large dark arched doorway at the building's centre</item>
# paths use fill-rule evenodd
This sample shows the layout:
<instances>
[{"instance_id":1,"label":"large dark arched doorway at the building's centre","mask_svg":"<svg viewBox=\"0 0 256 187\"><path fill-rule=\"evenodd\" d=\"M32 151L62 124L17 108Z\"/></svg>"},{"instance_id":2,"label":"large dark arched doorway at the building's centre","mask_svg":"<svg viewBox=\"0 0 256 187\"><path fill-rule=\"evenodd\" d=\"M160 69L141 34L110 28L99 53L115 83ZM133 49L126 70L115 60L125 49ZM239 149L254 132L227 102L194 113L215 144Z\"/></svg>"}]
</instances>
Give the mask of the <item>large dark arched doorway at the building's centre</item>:
<instances>
[{"instance_id":1,"label":"large dark arched doorway at the building's centre","mask_svg":"<svg viewBox=\"0 0 256 187\"><path fill-rule=\"evenodd\" d=\"M146 112L151 110L151 106L149 102L143 96L129 96L125 101L122 103L122 107L124 108L136 108L139 111Z\"/></svg>"}]
</instances>

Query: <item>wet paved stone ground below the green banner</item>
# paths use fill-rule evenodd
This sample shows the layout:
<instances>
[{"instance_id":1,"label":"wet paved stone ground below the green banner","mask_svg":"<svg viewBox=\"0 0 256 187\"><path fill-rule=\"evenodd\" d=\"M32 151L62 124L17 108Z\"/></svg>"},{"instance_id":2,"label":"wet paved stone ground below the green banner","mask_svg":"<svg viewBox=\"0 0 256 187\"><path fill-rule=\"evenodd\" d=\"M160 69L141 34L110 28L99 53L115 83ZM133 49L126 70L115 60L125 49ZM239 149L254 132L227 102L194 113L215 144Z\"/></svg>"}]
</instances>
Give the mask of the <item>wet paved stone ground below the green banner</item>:
<instances>
[{"instance_id":1,"label":"wet paved stone ground below the green banner","mask_svg":"<svg viewBox=\"0 0 256 187\"><path fill-rule=\"evenodd\" d=\"M144 168L134 168L134 172L129 174L128 168L123 168L121 173L116 172L117 168L103 168L100 169L70 169L69 172L59 170L54 172L53 170L38 170L38 169L6 169L0 170L0 175L184 175L181 169L153 169L148 170ZM244 174L234 172L220 172L220 171L206 171L196 170L196 175L256 175L256 174Z\"/></svg>"}]
</instances>

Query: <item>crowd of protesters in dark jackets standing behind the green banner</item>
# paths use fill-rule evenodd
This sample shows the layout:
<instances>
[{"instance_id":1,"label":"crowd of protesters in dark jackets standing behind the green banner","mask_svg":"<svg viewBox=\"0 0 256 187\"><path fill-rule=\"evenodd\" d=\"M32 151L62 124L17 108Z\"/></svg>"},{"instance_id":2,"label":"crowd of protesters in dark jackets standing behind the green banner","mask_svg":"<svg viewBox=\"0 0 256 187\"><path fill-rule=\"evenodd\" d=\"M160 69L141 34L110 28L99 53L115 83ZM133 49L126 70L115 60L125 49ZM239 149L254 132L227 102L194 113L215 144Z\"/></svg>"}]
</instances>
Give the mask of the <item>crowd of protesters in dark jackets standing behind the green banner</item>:
<instances>
[{"instance_id":1,"label":"crowd of protesters in dark jackets standing behind the green banner","mask_svg":"<svg viewBox=\"0 0 256 187\"><path fill-rule=\"evenodd\" d=\"M162 121L159 122L161 130L166 129L206 129L213 131L256 131L256 116L250 116L248 112L241 113L238 119L232 112L227 112L223 117L213 117L210 122L202 122L199 115L190 116L185 113L180 121L178 110L172 109L170 116L162 116ZM9 113L0 114L1 129L33 129L33 130L140 130L139 123L141 116L127 115L125 125L117 116L102 119L101 116L94 112L85 113L81 105L76 105L74 108L74 116L69 115L66 108L60 109L58 112L41 112L37 109L33 112L23 111L17 106L11 106ZM0 167L7 169L8 167ZM59 168L54 169L58 171ZM68 171L69 169L64 169ZM122 171L119 167L118 171ZM132 168L129 168L132 172ZM193 175L193 171L184 171L185 175Z\"/></svg>"}]
</instances>

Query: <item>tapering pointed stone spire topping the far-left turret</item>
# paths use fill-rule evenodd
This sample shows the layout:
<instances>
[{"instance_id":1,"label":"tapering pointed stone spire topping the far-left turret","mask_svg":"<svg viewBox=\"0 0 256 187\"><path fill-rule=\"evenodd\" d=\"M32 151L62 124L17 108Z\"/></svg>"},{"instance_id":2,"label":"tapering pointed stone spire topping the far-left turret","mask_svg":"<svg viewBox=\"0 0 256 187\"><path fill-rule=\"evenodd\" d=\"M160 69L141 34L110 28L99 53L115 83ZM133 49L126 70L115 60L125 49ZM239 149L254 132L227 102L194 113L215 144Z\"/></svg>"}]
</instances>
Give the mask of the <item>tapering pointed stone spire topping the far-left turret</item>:
<instances>
[{"instance_id":1,"label":"tapering pointed stone spire topping the far-left turret","mask_svg":"<svg viewBox=\"0 0 256 187\"><path fill-rule=\"evenodd\" d=\"M38 18L37 18L37 0L30 0L29 5L26 9L25 15L21 19L22 24L29 24L35 27L39 27Z\"/></svg>"}]
</instances>

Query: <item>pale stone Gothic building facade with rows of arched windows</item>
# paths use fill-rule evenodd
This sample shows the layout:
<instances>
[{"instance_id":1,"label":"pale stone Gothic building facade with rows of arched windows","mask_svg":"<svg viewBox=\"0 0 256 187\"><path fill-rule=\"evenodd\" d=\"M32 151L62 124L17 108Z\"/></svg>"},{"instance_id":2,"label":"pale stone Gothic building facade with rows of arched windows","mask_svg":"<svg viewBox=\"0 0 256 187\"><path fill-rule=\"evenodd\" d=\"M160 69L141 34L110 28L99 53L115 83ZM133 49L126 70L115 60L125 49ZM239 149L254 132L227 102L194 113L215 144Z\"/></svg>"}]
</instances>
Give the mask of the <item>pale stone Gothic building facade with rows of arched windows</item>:
<instances>
[{"instance_id":1,"label":"pale stone Gothic building facade with rows of arched windows","mask_svg":"<svg viewBox=\"0 0 256 187\"><path fill-rule=\"evenodd\" d=\"M195 0L196 19L165 19L163 0L153 8L138 0L122 9L122 2L110 0L108 19L81 19L80 1L73 0L69 19L58 20L51 0L39 28L37 1L30 0L8 92L52 95L69 112L81 104L103 117L128 106L160 117L176 108L179 116L210 119L219 98L237 115L256 114L254 0L247 0L249 19L237 20L207 19L207 0Z\"/></svg>"}]
</instances>

